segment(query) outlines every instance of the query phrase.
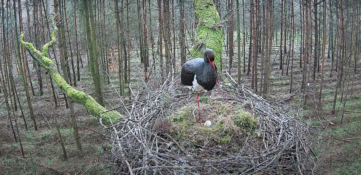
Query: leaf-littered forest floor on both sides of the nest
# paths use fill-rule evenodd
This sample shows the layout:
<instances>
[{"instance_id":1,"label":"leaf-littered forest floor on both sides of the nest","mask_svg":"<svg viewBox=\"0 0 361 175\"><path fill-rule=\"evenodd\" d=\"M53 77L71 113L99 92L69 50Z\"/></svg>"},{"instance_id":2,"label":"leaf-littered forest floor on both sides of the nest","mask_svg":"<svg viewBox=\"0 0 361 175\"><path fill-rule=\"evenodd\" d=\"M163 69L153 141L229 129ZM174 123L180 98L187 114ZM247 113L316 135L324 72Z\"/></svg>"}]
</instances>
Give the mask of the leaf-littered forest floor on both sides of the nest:
<instances>
[{"instance_id":1,"label":"leaf-littered forest floor on both sides of the nest","mask_svg":"<svg viewBox=\"0 0 361 175\"><path fill-rule=\"evenodd\" d=\"M277 48L275 48L277 49ZM277 50L276 50L277 51ZM111 53L109 56L112 55ZM247 55L246 55L247 58ZM272 56L275 58L275 56ZM81 69L81 81L77 84L77 89L86 93L92 93L93 85L91 76L87 68L86 56L83 56L84 67ZM227 60L224 54L223 59ZM278 59L278 56L277 56ZM326 58L327 59L327 58ZM151 60L151 58L150 58ZM237 77L237 53L233 57L233 65L231 75L236 80ZM295 55L294 69L293 69L293 91L296 92L301 86L302 69L299 67L299 54ZM132 52L132 66L131 66L131 86L135 86L142 75L142 66L139 58L135 52ZM226 61L228 62L228 61ZM308 123L310 127L322 133L315 137L318 140L314 145L314 152L316 153L317 165L316 174L361 174L361 113L344 113L343 123L341 123L343 102L336 101L335 114L331 114L332 100L335 94L336 73L332 72L330 76L331 65L325 65L324 85L322 91L322 106L317 108L316 102L319 93L319 79L321 73L316 73L316 81L309 82L309 91L306 95L309 97L307 105L300 104L301 95L292 95L289 92L290 76L286 76L286 66L284 67L284 74L282 70L278 69L277 60L271 69L270 86L266 99L284 100L288 104L294 106L295 111L303 116L304 122ZM327 60L326 63L329 63ZM30 62L31 63L31 62ZM291 65L291 63L290 63ZM29 64L32 69L32 64ZM108 108L116 107L119 104L118 98L118 83L116 63L111 64L115 69L110 69L110 84L106 82L106 76L103 76L103 91L105 99L108 101ZM357 74L354 79L353 90L348 92L347 100L345 101L345 110L361 111L360 95L361 95L361 75L360 66L357 67ZM223 74L228 71L227 67L223 67ZM178 70L179 71L179 70ZM247 70L246 70L247 71ZM260 72L258 70L258 72ZM101 129L99 121L89 115L83 106L74 104L75 114L79 132L81 135L81 143L83 146L83 156L79 155L75 139L73 136L73 128L71 127L71 119L69 109L65 107L64 99L58 88L58 97L60 106L57 108L58 122L60 124L61 133L64 137L66 150L68 153L68 160L64 161L62 158L61 146L58 142L56 134L55 123L53 120L53 111L51 110L47 90L44 90L44 95L40 96L38 92L38 82L36 81L36 73L32 71L31 77L34 83L35 96L31 95L34 113L38 123L39 130L35 131L32 127L32 121L28 115L28 109L25 99L25 94L22 90L20 96L23 109L26 113L26 122L29 130L26 131L21 117L17 118L20 135L22 136L22 145L25 151L25 158L22 158L19 149L19 144L14 140L7 118L7 111L4 97L1 96L0 106L0 174L109 174L106 168L106 163L103 161L108 156L108 144L105 140L104 130ZM260 78L260 75L258 75ZM22 89L21 81L16 76L18 89ZM242 73L241 82L247 87L251 87L251 73L247 75ZM258 82L260 83L260 82ZM46 84L46 83L45 83ZM47 89L44 86L44 89ZM340 95L340 94L339 94ZM338 98L339 99L339 98ZM194 102L194 101L192 101ZM19 114L19 113L18 113Z\"/></svg>"}]
</instances>

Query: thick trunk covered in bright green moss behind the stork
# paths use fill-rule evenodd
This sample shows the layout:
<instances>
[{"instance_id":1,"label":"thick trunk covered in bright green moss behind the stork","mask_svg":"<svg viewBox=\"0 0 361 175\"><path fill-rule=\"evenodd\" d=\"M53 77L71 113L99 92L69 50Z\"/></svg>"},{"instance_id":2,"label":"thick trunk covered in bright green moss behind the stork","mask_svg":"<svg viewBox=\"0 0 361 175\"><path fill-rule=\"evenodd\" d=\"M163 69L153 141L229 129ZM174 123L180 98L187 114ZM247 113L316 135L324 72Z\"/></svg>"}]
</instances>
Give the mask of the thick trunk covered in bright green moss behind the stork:
<instances>
[{"instance_id":1,"label":"thick trunk covered in bright green moss behind the stork","mask_svg":"<svg viewBox=\"0 0 361 175\"><path fill-rule=\"evenodd\" d=\"M198 20L196 33L194 37L196 45L192 49L193 58L203 57L205 48L214 51L214 62L222 69L220 65L223 45L222 29L217 27L219 23L219 14L214 6L213 0L194 0L195 15Z\"/></svg>"}]
</instances>

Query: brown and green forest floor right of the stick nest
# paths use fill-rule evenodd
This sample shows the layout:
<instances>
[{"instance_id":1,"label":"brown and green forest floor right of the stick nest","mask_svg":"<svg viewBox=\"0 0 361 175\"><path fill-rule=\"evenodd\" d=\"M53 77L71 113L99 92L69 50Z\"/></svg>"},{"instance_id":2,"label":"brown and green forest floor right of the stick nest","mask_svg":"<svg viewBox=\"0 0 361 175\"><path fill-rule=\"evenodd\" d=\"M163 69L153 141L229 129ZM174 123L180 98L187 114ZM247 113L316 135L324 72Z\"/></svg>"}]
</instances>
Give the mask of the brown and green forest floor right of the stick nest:
<instances>
[{"instance_id":1,"label":"brown and green forest floor right of the stick nest","mask_svg":"<svg viewBox=\"0 0 361 175\"><path fill-rule=\"evenodd\" d=\"M327 50L326 50L327 54ZM225 56L223 56L225 57ZM274 58L274 55L272 56ZM306 92L308 99L306 105L300 102L301 96L297 95L296 90L301 88L302 69L299 63L299 54L295 54L294 69L293 69L293 86L292 93L290 90L290 70L286 76L286 66L284 65L283 75L282 70L279 69L279 60L275 61L270 74L270 86L266 99L272 100L285 100L288 104L293 105L294 109L299 115L303 116L304 122L308 123L310 127L314 128L321 135L315 136L317 140L314 145L314 152L316 160L314 163L317 165L315 172L317 174L329 175L356 175L361 174L361 70L360 66L356 67L356 74L351 75L353 84L349 84L347 91L347 99L340 101L341 90L338 93L336 100L335 114L332 114L333 99L335 96L336 74L335 66L331 75L331 58L325 61L325 73L322 89L322 104L317 107L320 87L321 72L317 72L316 80L309 82L310 89ZM236 59L236 58L233 58ZM247 59L247 55L246 55ZM279 57L277 57L279 59ZM320 64L322 64L320 60ZM358 59L360 61L360 59ZM237 62L233 62L236 65ZM358 62L357 65L360 65ZM291 63L290 63L291 66ZM321 66L320 66L321 67ZM227 70L227 67L224 68ZM321 69L321 68L320 68ZM247 69L246 69L247 71ZM258 70L259 71L259 70ZM312 75L312 74L311 74ZM232 71L232 76L237 77L237 71ZM258 75L258 78L260 75ZM251 86L251 72L249 76L247 73L242 74L242 81ZM258 82L259 83L259 82ZM347 83L347 81L346 81ZM345 87L346 84L345 84ZM296 91L296 92L295 92ZM346 93L346 90L345 92ZM295 95L296 94L296 95ZM293 96L295 95L295 96ZM292 98L289 98L293 96ZM344 96L345 98L345 96ZM300 104L301 103L301 104ZM345 106L343 107L343 105ZM345 112L342 111L355 111ZM343 117L342 117L343 116ZM343 119L342 119L343 118ZM342 123L341 123L342 120Z\"/></svg>"}]
</instances>

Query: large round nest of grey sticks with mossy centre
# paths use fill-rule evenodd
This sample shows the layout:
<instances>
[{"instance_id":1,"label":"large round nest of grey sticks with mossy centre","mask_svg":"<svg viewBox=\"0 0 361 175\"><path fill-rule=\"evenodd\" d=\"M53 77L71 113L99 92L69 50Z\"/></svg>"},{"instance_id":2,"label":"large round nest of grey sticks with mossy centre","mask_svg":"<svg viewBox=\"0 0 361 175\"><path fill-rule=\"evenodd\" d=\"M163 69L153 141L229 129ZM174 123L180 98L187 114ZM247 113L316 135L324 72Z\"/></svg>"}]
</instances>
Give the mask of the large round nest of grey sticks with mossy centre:
<instances>
[{"instance_id":1,"label":"large round nest of grey sticks with mossy centre","mask_svg":"<svg viewBox=\"0 0 361 175\"><path fill-rule=\"evenodd\" d=\"M307 124L287 105L265 100L230 76L224 80L221 87L201 94L208 101L201 103L202 118L212 121L211 127L197 124L195 93L182 92L187 90L179 77L140 83L131 92L132 102L119 109L125 120L113 128L117 135L109 138L112 158L106 167L125 174L312 171L312 131ZM226 106L220 109L224 113L219 105ZM252 114L257 124L236 125L239 110ZM179 116L188 118L180 121Z\"/></svg>"}]
</instances>

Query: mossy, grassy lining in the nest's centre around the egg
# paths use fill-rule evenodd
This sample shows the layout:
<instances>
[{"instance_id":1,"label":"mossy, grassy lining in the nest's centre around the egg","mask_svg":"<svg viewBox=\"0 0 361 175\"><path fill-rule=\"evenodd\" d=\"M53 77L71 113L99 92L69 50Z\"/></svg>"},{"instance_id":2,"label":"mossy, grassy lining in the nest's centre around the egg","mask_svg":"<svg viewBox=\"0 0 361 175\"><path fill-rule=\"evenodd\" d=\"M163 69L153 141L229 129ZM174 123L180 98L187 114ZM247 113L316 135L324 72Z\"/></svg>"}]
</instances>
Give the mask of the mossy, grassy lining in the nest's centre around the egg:
<instances>
[{"instance_id":1,"label":"mossy, grassy lining in the nest's centre around the egg","mask_svg":"<svg viewBox=\"0 0 361 175\"><path fill-rule=\"evenodd\" d=\"M167 131L175 140L186 141L185 145L232 145L253 133L257 124L253 114L221 101L201 103L201 118L211 121L212 126L198 124L197 104L190 103L168 117L171 129Z\"/></svg>"}]
</instances>

